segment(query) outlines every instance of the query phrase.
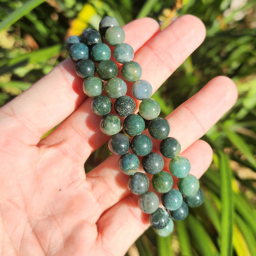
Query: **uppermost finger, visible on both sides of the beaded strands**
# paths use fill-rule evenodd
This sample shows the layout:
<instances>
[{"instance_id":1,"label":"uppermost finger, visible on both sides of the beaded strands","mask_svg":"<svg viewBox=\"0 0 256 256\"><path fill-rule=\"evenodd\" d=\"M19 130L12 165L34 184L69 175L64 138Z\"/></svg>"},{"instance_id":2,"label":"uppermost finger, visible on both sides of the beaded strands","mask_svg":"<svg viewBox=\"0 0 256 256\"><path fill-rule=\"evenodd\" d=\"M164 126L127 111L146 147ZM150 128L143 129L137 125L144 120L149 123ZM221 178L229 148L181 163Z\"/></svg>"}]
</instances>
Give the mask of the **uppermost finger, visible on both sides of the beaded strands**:
<instances>
[{"instance_id":1,"label":"uppermost finger, visible on both sides of the beaded strands","mask_svg":"<svg viewBox=\"0 0 256 256\"><path fill-rule=\"evenodd\" d=\"M153 19L143 18L125 25L123 29L127 35L125 42L136 52L159 32L159 25ZM85 99L82 82L83 79L75 73L75 63L70 59L63 61L5 105L0 111L0 119L9 123L12 134L15 134L13 130L19 131L19 139L37 144L43 134L63 121Z\"/></svg>"}]
</instances>

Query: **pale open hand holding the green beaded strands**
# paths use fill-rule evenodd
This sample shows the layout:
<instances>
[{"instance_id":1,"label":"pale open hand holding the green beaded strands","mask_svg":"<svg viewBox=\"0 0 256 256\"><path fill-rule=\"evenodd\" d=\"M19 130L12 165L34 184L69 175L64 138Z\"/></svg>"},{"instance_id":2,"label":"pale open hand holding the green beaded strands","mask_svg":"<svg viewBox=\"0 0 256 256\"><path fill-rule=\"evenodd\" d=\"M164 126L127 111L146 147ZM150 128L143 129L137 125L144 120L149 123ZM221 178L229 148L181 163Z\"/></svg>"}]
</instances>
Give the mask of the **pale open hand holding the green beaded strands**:
<instances>
[{"instance_id":1,"label":"pale open hand holding the green beaded strands","mask_svg":"<svg viewBox=\"0 0 256 256\"><path fill-rule=\"evenodd\" d=\"M149 18L123 28L141 79L154 91L205 38L204 25L191 15L162 32ZM0 109L1 255L122 256L149 227L117 156L85 175L85 160L109 137L99 131L100 117L91 112L74 70L70 59L63 61ZM198 178L212 160L210 146L199 138L236 98L233 82L216 77L167 116L170 136L180 141Z\"/></svg>"}]
</instances>

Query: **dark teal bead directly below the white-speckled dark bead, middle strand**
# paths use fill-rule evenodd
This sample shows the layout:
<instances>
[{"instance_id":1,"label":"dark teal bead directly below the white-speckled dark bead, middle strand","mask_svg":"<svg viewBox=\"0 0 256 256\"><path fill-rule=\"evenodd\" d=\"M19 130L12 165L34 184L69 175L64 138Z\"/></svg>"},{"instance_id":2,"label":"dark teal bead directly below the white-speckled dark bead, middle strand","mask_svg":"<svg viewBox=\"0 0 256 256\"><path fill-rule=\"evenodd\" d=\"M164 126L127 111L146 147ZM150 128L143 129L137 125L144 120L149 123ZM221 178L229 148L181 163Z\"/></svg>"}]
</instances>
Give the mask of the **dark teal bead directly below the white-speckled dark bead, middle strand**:
<instances>
[{"instance_id":1,"label":"dark teal bead directly below the white-speckled dark bead, middle strand","mask_svg":"<svg viewBox=\"0 0 256 256\"><path fill-rule=\"evenodd\" d=\"M139 115L129 115L123 121L123 130L130 136L141 134L145 129L145 122Z\"/></svg>"}]
</instances>

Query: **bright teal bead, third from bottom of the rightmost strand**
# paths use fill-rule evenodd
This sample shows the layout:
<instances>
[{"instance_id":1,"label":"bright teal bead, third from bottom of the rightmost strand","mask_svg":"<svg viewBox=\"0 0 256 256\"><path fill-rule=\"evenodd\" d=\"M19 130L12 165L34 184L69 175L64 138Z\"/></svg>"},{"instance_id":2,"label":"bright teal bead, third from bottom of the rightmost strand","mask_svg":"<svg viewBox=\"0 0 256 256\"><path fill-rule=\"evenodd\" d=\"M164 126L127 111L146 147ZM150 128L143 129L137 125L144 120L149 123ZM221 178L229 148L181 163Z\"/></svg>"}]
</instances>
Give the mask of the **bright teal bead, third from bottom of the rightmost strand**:
<instances>
[{"instance_id":1,"label":"bright teal bead, third from bottom of the rightmost strand","mask_svg":"<svg viewBox=\"0 0 256 256\"><path fill-rule=\"evenodd\" d=\"M169 163L169 170L173 176L177 178L184 178L189 174L190 162L183 156L176 156L171 159Z\"/></svg>"}]
</instances>

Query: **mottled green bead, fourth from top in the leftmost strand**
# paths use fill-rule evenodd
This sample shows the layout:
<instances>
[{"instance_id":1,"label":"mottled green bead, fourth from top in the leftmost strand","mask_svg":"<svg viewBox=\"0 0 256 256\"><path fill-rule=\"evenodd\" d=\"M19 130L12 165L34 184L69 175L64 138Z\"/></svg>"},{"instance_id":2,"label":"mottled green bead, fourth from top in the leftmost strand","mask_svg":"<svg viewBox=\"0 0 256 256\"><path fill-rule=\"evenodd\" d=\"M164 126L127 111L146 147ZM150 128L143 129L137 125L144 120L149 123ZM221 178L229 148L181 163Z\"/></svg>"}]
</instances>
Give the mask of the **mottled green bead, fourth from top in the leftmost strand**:
<instances>
[{"instance_id":1,"label":"mottled green bead, fourth from top in the leftmost strand","mask_svg":"<svg viewBox=\"0 0 256 256\"><path fill-rule=\"evenodd\" d=\"M102 93L103 82L96 76L86 77L83 84L84 93L89 97L95 97Z\"/></svg>"}]
</instances>

